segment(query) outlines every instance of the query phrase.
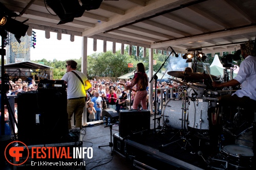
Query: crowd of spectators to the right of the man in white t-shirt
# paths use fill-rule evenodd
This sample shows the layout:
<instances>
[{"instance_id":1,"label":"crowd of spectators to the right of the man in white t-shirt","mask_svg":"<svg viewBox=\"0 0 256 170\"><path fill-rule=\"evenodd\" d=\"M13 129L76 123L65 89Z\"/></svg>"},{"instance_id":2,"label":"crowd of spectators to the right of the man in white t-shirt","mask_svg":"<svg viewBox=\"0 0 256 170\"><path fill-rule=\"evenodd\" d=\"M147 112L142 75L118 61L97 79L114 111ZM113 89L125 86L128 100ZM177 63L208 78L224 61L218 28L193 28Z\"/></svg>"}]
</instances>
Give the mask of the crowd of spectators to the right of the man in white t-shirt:
<instances>
[{"instance_id":1,"label":"crowd of spectators to the right of the man in white t-shirt","mask_svg":"<svg viewBox=\"0 0 256 170\"><path fill-rule=\"evenodd\" d=\"M102 110L104 109L114 109L117 112L119 112L120 109L131 109L130 107L133 105L133 100L136 92L135 90L124 89L124 87L121 85L121 84L129 84L131 83L131 81L132 80L130 81L125 81L125 80L111 81L111 80L104 80L104 79L90 80L92 87L88 90L88 95L90 97L88 98L87 103L89 104L89 102L93 101L94 107L96 111L98 111L98 113L102 112ZM148 87L146 90L149 95ZM133 88L136 89L136 86L134 86ZM157 81L157 88L174 88L174 91L178 91L178 84L176 82L174 82L174 84L167 84L166 82L159 83L159 81ZM155 82L153 82L153 89L155 89ZM164 94L162 96L163 99L165 99L165 94L166 93L164 91ZM101 95L105 97L101 97ZM154 95L155 93L153 93L153 104L154 104ZM158 94L157 97L158 97L157 103L159 103L160 105L161 96ZM97 102L95 103L96 99L97 99ZM147 96L147 99L148 99L148 96ZM101 104L104 102L106 104L105 108L102 107L102 105L104 104ZM99 108L99 105L100 105L100 108ZM159 105L157 109L159 109ZM148 106L149 104L147 100L147 108ZM101 115L98 117L95 116L95 120L100 120L100 119L102 119Z\"/></svg>"}]
</instances>

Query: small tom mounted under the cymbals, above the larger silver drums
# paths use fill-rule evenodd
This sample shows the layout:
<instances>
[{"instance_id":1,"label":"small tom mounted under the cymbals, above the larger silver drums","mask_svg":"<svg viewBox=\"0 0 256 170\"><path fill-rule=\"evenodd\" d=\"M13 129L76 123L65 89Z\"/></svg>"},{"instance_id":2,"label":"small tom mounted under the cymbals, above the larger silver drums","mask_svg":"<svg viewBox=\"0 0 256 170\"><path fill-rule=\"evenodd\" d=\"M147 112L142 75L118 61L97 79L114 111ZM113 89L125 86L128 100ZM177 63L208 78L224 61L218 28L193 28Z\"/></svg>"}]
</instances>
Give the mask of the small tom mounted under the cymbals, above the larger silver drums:
<instances>
[{"instance_id":1,"label":"small tom mounted under the cymbals, above the larger silver drums","mask_svg":"<svg viewBox=\"0 0 256 170\"><path fill-rule=\"evenodd\" d=\"M187 89L187 96L189 98L202 98L202 96L205 94L205 88L206 85L205 84L201 84L201 83L187 83L188 85L188 89ZM195 94L195 92L197 93L197 95ZM192 94L195 94L194 96Z\"/></svg>"}]
</instances>

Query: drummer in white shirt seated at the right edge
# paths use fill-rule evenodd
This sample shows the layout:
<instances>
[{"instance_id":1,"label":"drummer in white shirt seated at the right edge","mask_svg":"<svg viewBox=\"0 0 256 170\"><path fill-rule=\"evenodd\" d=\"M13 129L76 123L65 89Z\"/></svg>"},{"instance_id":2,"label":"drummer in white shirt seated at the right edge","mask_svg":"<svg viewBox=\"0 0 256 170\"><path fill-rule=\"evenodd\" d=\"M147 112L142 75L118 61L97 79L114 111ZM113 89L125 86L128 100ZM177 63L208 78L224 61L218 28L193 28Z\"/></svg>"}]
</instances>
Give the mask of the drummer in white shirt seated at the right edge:
<instances>
[{"instance_id":1,"label":"drummer in white shirt seated at the right edge","mask_svg":"<svg viewBox=\"0 0 256 170\"><path fill-rule=\"evenodd\" d=\"M254 110L256 105L256 50L253 41L247 41L241 46L241 53L244 60L241 62L238 75L225 83L212 82L214 87L227 87L241 85L242 89L233 94L219 97L220 106L242 107L250 120L254 120ZM256 126L253 124L253 141L256 142ZM256 155L256 145L253 146L254 157ZM254 160L255 162L255 160Z\"/></svg>"}]
</instances>

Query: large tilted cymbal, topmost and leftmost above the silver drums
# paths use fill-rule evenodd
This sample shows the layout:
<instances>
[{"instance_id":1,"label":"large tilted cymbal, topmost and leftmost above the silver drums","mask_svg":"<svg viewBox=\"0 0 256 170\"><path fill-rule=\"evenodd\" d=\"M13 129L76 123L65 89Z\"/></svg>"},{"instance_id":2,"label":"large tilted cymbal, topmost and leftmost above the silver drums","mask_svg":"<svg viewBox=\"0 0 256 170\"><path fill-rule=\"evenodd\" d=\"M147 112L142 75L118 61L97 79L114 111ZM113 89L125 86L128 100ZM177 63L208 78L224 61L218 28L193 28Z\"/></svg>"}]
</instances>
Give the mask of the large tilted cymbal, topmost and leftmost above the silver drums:
<instances>
[{"instance_id":1,"label":"large tilted cymbal, topmost and leftmost above the silver drums","mask_svg":"<svg viewBox=\"0 0 256 170\"><path fill-rule=\"evenodd\" d=\"M187 72L185 74L185 71L169 71L167 72L168 75L177 77L180 79L185 79L185 80L202 80L204 79L200 74L195 73L195 72Z\"/></svg>"}]
</instances>

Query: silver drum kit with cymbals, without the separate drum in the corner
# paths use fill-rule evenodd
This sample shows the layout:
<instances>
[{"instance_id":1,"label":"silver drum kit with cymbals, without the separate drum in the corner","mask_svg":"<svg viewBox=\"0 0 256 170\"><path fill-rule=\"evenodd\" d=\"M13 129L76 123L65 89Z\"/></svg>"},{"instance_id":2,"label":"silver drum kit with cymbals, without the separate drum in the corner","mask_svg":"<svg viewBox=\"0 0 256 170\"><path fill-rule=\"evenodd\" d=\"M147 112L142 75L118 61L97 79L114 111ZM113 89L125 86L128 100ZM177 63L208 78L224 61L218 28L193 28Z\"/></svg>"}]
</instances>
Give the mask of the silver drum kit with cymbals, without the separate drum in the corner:
<instances>
[{"instance_id":1,"label":"silver drum kit with cymbals, without the separate drum in the corner","mask_svg":"<svg viewBox=\"0 0 256 170\"><path fill-rule=\"evenodd\" d=\"M193 81L216 79L217 77L200 72L186 71L169 71L167 74L179 78L179 80L168 79L180 84L180 89L182 90L179 91L183 94L178 95L184 96L184 98L183 100L179 98L174 105L172 105L172 100L166 101L165 107L163 108L163 122L174 129L187 129L190 127L209 130L207 110L212 105L216 106L218 98L213 97L213 95L207 95L208 91L206 92L205 84L195 83ZM211 93L214 92L211 91ZM188 107L186 107L187 101L189 101ZM180 109L182 109L182 118L179 117L180 114L177 115Z\"/></svg>"}]
</instances>

